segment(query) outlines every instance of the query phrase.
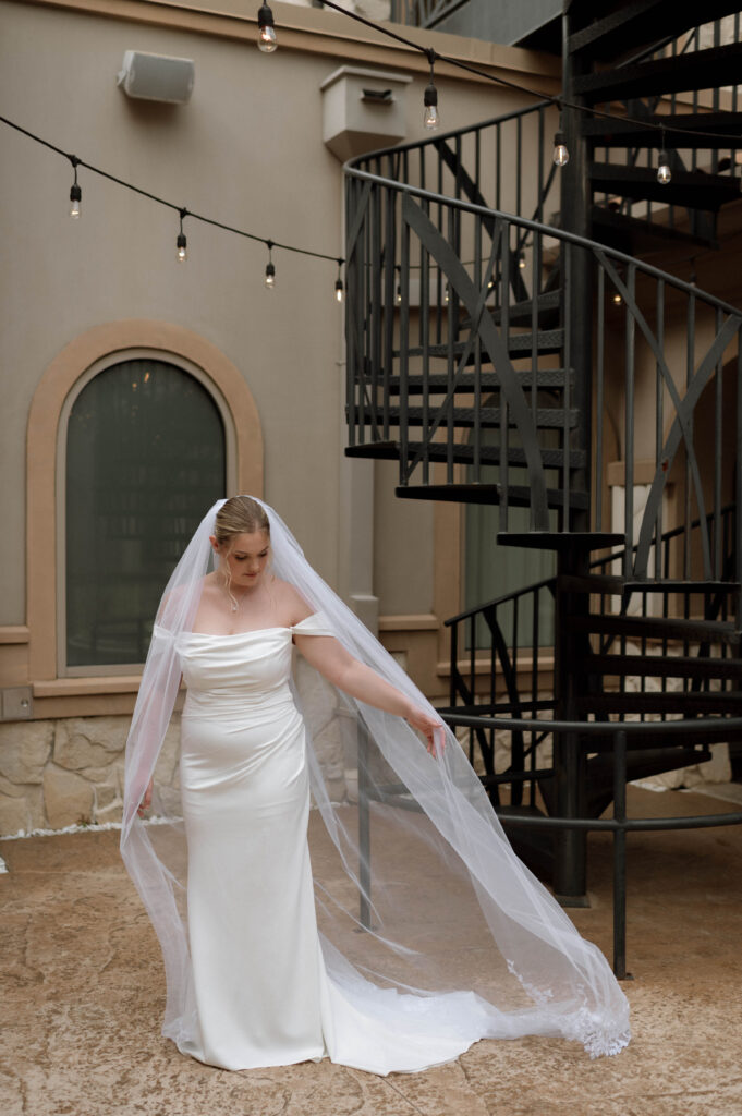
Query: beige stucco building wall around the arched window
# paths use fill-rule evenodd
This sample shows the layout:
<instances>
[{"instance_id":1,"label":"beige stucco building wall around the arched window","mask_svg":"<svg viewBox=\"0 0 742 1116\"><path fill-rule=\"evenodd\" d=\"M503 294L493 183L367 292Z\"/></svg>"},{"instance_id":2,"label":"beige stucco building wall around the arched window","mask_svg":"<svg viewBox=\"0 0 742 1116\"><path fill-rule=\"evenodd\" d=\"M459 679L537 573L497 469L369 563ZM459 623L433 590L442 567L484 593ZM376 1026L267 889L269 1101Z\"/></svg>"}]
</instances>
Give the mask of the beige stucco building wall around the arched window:
<instances>
[{"instance_id":1,"label":"beige stucco building wall around the arched window","mask_svg":"<svg viewBox=\"0 0 742 1116\"><path fill-rule=\"evenodd\" d=\"M341 16L280 2L273 8L279 50L266 57L254 46L257 7L252 0L220 0L218 6L0 0L3 114L191 210L339 256L343 175L321 142L319 87L345 62L409 75L407 138L414 140L423 134L427 64L418 52L388 45ZM557 88L558 64L538 55L433 32L408 33L493 74ZM126 98L116 87L126 49L193 58L190 104ZM528 103L443 66L436 69L436 83L445 127ZM35 602L28 599L27 538L37 557L54 552L55 525L46 517L55 478L45 459L47 510L41 514L41 506L32 506L27 523L26 455L33 444L27 430L31 401L45 396L45 377L60 354L90 331L110 329L114 335L121 331L116 324L132 320L172 334L187 331L212 347L219 363L237 371L262 435L266 498L280 509L310 560L346 596L378 596L382 629L394 634L392 642L402 643L403 652L406 642L420 642L420 633L428 632L426 656L434 661L442 618L435 584L440 562L447 569L451 558L434 557L432 507L395 501L389 470L343 455L343 323L333 298L334 264L277 251L277 290L270 295L262 282L263 246L193 221L186 221L185 230L189 262L179 264L174 212L81 169L83 215L70 221L69 164L10 128L2 127L0 136L6 261L0 278L0 685L36 684L35 716L131 708L135 679L119 677L107 687L100 680L87 687L57 680L49 647L44 668L33 665L41 662L35 660L33 628L37 645L41 636L46 643L54 635L54 618L44 619L54 610L54 595L45 590ZM79 363L81 375L87 365L84 357ZM234 406L235 401L228 403ZM58 405L61 400L45 420L49 453ZM253 427L237 422L239 410L239 450L247 460L254 449ZM38 473L38 461L36 468ZM50 559L50 579L52 566ZM443 599L455 596L449 591ZM428 677L431 666L428 662Z\"/></svg>"}]
</instances>

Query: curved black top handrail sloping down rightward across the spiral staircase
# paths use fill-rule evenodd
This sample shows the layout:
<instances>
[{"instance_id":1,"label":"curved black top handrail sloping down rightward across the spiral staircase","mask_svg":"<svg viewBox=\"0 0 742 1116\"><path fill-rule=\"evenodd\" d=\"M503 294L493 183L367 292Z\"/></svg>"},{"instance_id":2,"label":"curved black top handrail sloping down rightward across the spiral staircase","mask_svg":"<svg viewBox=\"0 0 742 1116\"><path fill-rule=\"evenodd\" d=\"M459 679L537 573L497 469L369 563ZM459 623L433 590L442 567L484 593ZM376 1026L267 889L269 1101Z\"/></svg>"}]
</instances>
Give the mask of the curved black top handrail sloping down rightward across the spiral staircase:
<instances>
[{"instance_id":1,"label":"curved black top handrail sloping down rightward across the spiral staircase","mask_svg":"<svg viewBox=\"0 0 742 1116\"><path fill-rule=\"evenodd\" d=\"M396 148L389 148L385 152L385 154L391 154L394 151L396 151ZM411 186L406 182L396 182L394 179L386 179L379 174L370 174L368 171L359 171L351 166L350 163L345 164L345 172L349 177L358 179L363 182L372 182L375 185L384 186L385 190L395 190L399 193L408 194L412 198L420 198L423 201L445 205L451 209L460 210L463 213L472 213L475 217L500 218L509 224L515 224L519 228L528 229L530 232L546 233L547 235L562 240L566 243L575 244L577 248L586 248L590 251L598 251L619 263L630 266L636 271L642 271L644 275L652 276L654 279L658 279L668 286L675 287L677 290L682 290L686 295L692 295L694 298L704 301L707 306L713 306L732 317L742 319L742 310L738 306L732 306L731 302L724 302L723 299L716 298L715 295L710 295L707 291L701 290L697 286L694 286L694 283L685 282L683 279L678 279L676 276L673 276L667 271L662 271L659 268L655 268L651 263L645 263L635 256L627 256L626 252L619 252L618 249L608 248L606 244L601 244L598 240L590 240L588 237L580 237L575 232L567 232L565 229L558 229L556 225L543 224L539 221L532 221L529 218L518 217L513 213L505 213L502 210L490 209L485 205L475 205L473 202L465 202L460 198L450 198L446 194L439 194L432 190L423 190L421 186Z\"/></svg>"}]
</instances>

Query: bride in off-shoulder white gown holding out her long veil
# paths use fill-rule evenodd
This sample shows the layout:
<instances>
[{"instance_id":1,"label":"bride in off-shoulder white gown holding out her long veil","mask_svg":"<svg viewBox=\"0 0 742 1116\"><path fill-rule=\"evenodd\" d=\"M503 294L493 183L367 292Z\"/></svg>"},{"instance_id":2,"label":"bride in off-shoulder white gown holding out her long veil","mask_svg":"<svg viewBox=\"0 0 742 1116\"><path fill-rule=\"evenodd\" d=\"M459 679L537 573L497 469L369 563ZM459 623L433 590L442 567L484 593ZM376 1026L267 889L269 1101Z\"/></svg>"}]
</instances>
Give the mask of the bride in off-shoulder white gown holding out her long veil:
<instances>
[{"instance_id":1,"label":"bride in off-shoulder white gown holding out her long veil","mask_svg":"<svg viewBox=\"0 0 742 1116\"><path fill-rule=\"evenodd\" d=\"M180 801L145 827L181 676ZM455 738L250 497L210 509L163 595L122 854L163 950L163 1033L210 1065L387 1074L485 1037L628 1041L605 958L514 856Z\"/></svg>"}]
</instances>

